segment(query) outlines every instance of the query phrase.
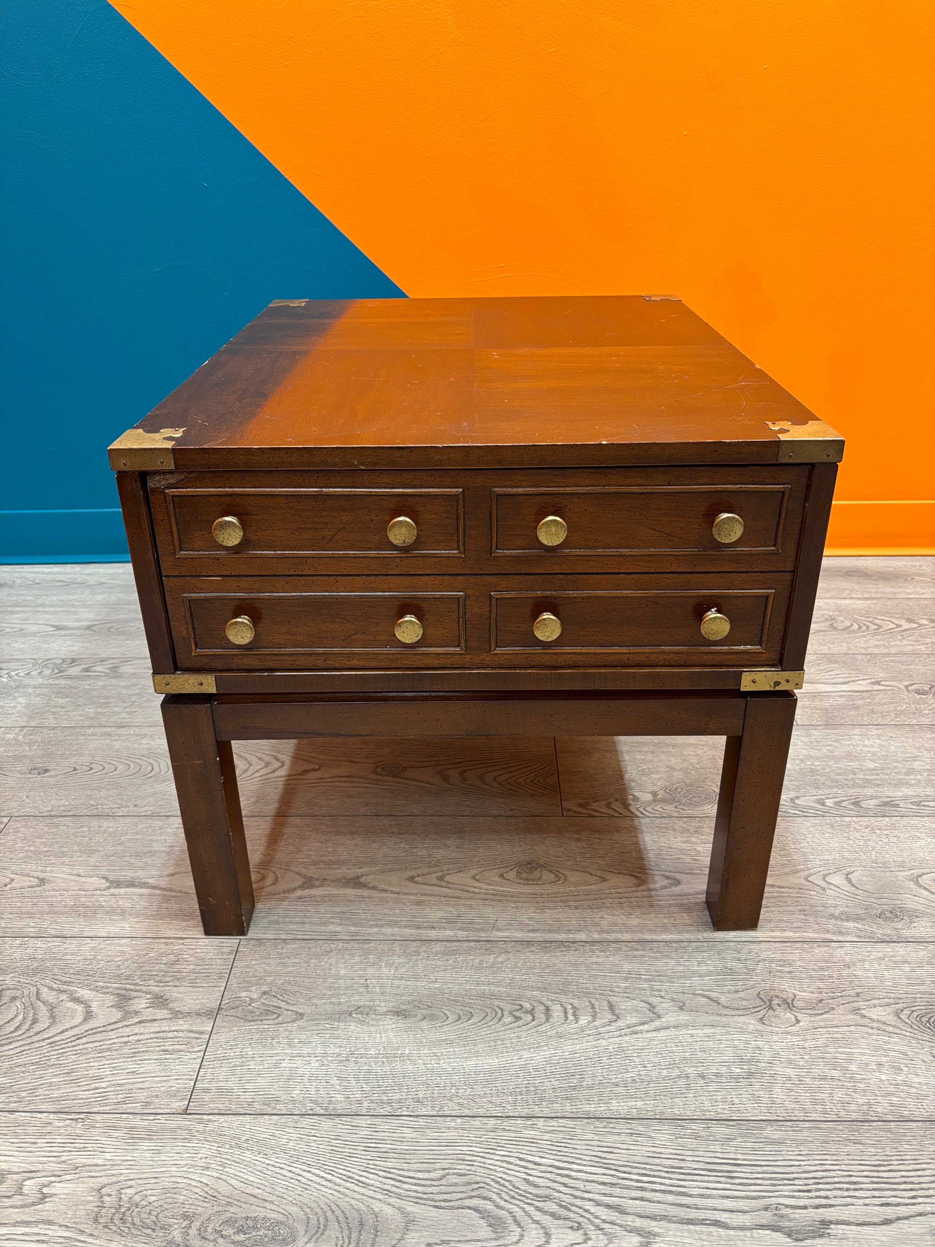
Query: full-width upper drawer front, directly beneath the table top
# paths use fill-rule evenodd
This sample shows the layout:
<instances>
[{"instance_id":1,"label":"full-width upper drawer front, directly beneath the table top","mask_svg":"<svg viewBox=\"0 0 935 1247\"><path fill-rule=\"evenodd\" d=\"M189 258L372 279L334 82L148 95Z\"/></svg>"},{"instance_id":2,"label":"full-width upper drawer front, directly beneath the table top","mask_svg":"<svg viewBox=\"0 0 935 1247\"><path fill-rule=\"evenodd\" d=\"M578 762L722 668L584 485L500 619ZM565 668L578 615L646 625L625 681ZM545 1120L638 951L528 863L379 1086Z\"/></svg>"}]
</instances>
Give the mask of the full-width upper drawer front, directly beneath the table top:
<instances>
[{"instance_id":1,"label":"full-width upper drawer front, directly beneath the table top","mask_svg":"<svg viewBox=\"0 0 935 1247\"><path fill-rule=\"evenodd\" d=\"M150 476L150 500L167 576L792 571L809 471L795 464L160 473ZM712 522L731 510L747 530L721 545ZM405 550L386 537L400 513L420 530ZM536 525L550 513L567 514L571 529L547 549ZM244 537L226 549L211 525L231 514Z\"/></svg>"}]
</instances>

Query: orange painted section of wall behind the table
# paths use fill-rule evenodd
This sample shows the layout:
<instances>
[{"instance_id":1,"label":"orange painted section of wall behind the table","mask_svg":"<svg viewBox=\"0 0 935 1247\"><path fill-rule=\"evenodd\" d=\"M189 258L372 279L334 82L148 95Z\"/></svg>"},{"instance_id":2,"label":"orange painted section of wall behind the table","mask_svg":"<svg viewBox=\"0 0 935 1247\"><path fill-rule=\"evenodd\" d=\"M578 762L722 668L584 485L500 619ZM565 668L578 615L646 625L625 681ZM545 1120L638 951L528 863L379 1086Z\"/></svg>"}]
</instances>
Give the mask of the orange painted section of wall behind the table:
<instances>
[{"instance_id":1,"label":"orange painted section of wall behind the table","mask_svg":"<svg viewBox=\"0 0 935 1247\"><path fill-rule=\"evenodd\" d=\"M408 294L679 294L935 549L929 0L113 2Z\"/></svg>"}]
</instances>

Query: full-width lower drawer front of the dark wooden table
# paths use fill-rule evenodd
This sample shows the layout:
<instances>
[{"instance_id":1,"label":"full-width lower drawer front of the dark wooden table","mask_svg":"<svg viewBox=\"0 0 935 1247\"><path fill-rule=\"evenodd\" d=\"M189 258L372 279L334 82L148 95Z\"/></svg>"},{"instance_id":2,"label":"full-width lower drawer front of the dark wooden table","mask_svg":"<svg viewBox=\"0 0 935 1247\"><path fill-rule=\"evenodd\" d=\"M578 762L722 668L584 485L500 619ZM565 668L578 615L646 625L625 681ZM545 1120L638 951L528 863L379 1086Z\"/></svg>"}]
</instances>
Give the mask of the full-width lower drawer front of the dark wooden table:
<instances>
[{"instance_id":1,"label":"full-width lower drawer front of the dark wooden table","mask_svg":"<svg viewBox=\"0 0 935 1247\"><path fill-rule=\"evenodd\" d=\"M790 590L789 575L747 574L166 580L178 667L194 671L770 666ZM729 622L714 638L712 611ZM552 640L535 631L544 615Z\"/></svg>"}]
</instances>

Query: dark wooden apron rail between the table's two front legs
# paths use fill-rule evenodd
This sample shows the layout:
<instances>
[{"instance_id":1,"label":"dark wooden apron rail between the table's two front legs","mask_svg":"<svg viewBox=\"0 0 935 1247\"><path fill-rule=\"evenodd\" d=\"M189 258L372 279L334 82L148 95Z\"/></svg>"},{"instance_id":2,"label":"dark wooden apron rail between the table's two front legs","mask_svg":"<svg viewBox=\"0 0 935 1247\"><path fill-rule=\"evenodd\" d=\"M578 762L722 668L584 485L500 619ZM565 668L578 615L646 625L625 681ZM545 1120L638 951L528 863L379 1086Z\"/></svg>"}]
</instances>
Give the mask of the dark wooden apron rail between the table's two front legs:
<instances>
[{"instance_id":1,"label":"dark wooden apron rail between the table's two front legs","mask_svg":"<svg viewBox=\"0 0 935 1247\"><path fill-rule=\"evenodd\" d=\"M743 729L736 693L472 698L414 695L332 701L218 698L219 739L307 736L733 736Z\"/></svg>"}]
</instances>

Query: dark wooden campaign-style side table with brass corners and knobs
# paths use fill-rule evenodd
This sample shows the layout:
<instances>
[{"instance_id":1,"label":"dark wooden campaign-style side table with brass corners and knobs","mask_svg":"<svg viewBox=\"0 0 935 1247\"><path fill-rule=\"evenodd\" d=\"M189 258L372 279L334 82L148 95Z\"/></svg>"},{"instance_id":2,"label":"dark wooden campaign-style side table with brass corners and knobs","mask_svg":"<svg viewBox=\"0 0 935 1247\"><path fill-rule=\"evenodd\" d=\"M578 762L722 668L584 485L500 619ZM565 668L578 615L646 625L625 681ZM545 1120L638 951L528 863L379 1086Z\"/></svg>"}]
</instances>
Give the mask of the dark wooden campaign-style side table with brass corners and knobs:
<instances>
[{"instance_id":1,"label":"dark wooden campaign-style side table with brass corners and knobs","mask_svg":"<svg viewBox=\"0 0 935 1247\"><path fill-rule=\"evenodd\" d=\"M677 299L272 303L110 448L207 934L231 742L726 737L757 925L843 441Z\"/></svg>"}]
</instances>

